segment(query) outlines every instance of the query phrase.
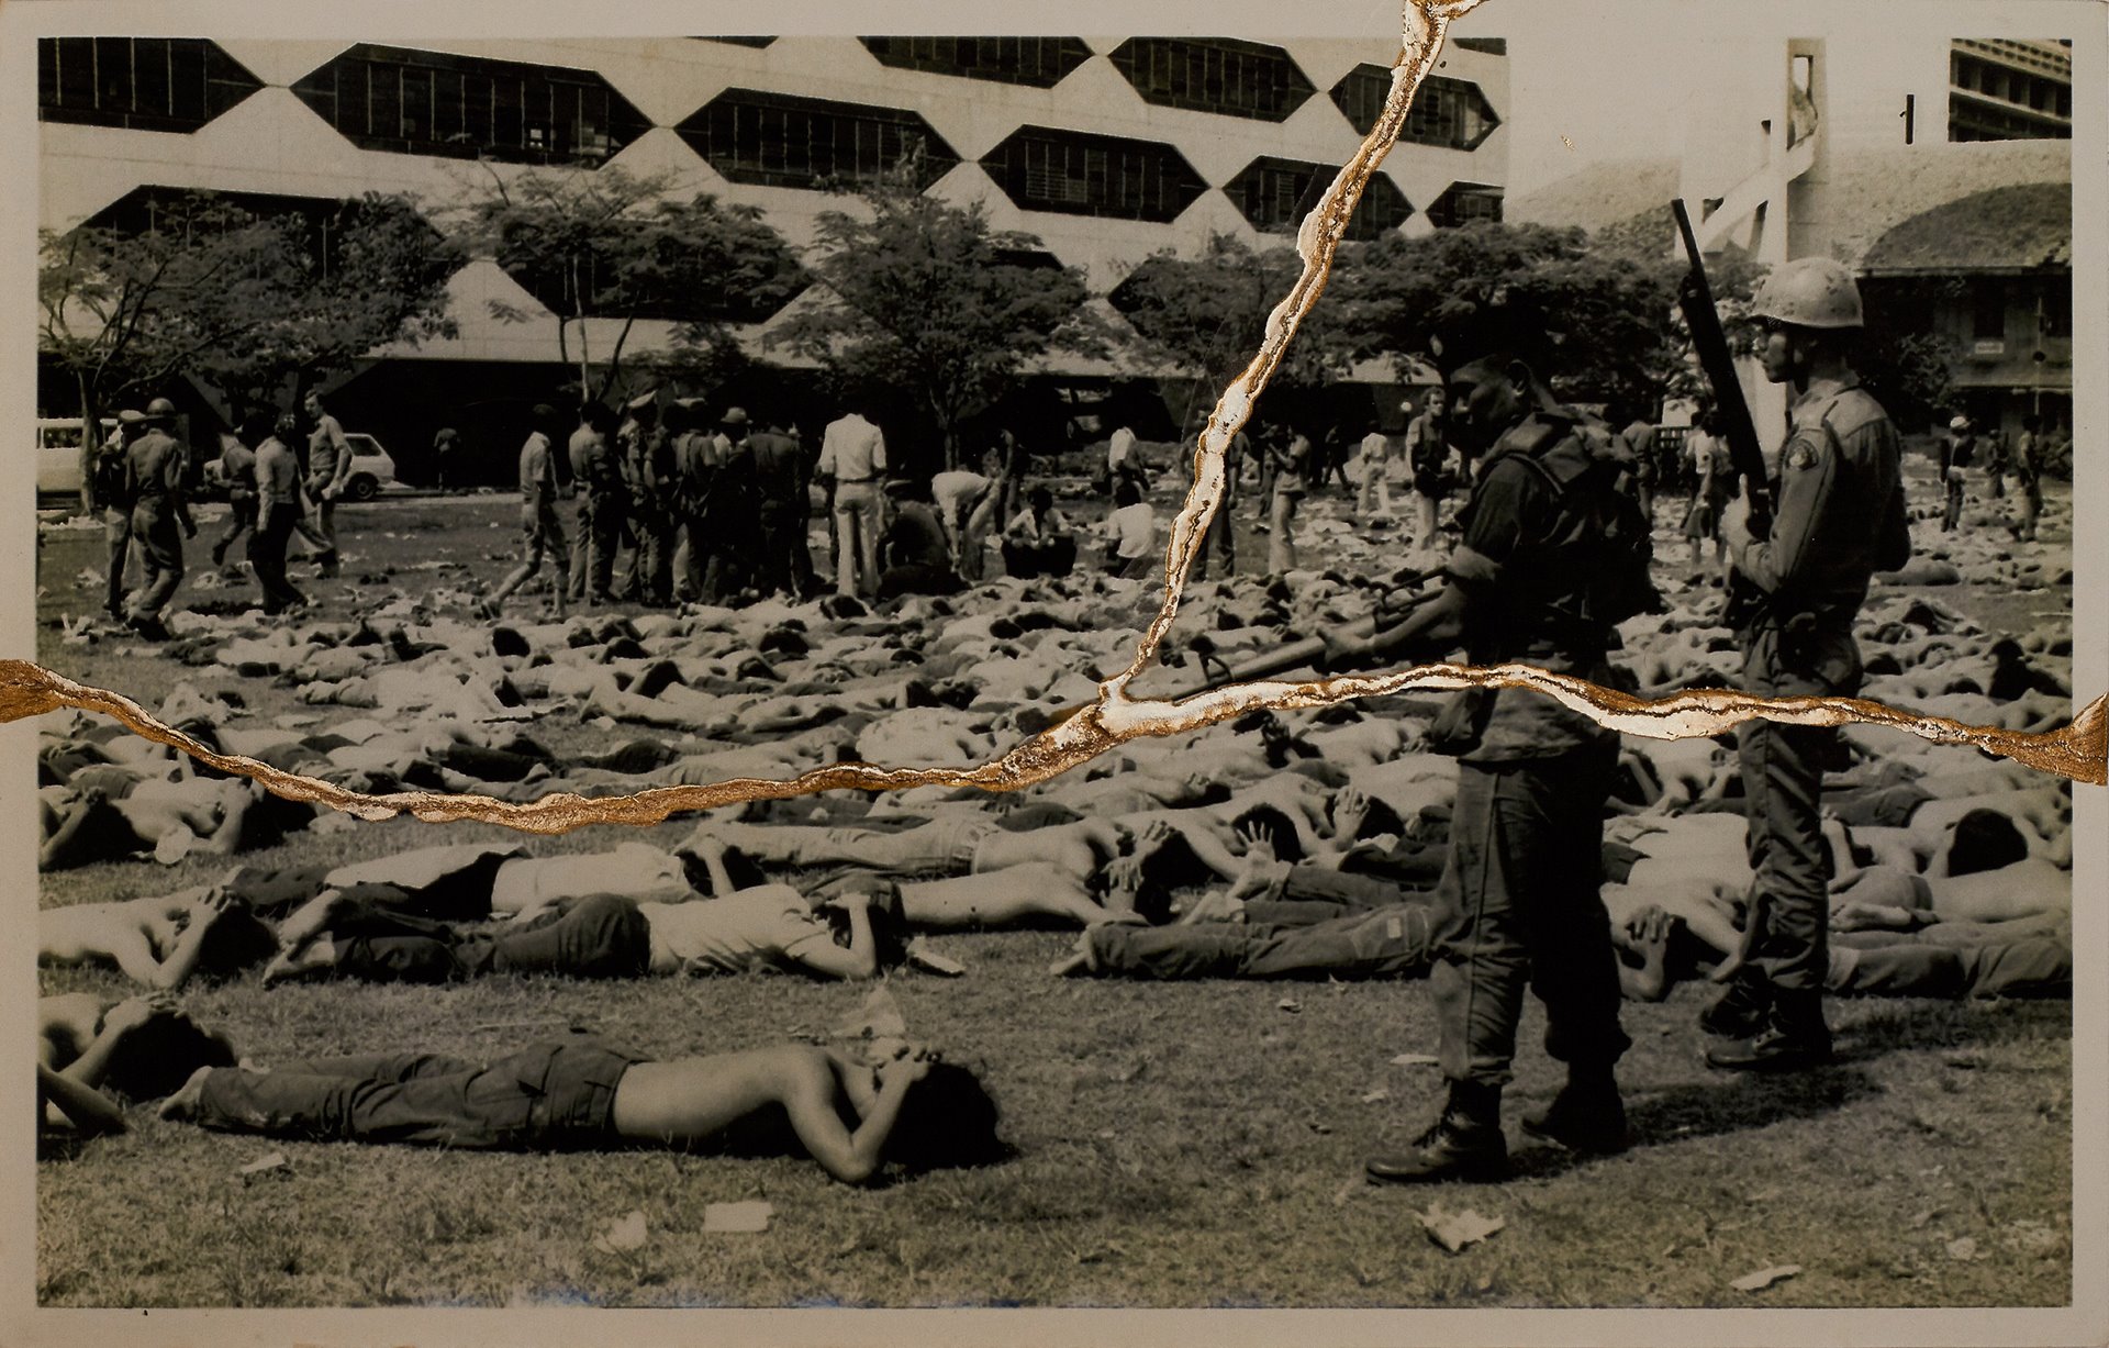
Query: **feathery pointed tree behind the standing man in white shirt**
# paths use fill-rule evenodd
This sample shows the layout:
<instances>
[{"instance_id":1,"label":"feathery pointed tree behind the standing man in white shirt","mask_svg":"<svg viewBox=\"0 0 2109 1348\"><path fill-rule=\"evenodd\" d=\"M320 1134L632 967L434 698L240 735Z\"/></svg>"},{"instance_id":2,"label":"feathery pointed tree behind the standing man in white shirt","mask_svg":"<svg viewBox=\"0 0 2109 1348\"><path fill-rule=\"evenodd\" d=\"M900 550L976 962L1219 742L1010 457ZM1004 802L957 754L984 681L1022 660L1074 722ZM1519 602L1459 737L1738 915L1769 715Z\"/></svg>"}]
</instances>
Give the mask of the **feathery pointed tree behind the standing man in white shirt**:
<instances>
[{"instance_id":1,"label":"feathery pointed tree behind the standing man in white shirt","mask_svg":"<svg viewBox=\"0 0 2109 1348\"><path fill-rule=\"evenodd\" d=\"M856 190L856 211L816 219L825 285L776 340L820 361L841 386L915 399L960 464L962 424L1019 386L1054 350L1099 357L1105 323L1078 268L1036 266L1040 240L991 230L981 205L915 190L913 158Z\"/></svg>"}]
</instances>

